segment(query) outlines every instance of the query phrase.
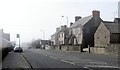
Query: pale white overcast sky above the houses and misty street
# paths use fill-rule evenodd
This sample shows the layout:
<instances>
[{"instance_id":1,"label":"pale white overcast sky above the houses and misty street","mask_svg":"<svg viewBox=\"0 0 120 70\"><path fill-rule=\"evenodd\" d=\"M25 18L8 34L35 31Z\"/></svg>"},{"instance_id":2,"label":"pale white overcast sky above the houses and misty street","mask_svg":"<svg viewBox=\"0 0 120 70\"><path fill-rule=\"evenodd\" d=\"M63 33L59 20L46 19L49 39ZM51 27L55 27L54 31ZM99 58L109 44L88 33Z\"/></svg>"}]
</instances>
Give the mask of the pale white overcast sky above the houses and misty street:
<instances>
[{"instance_id":1,"label":"pale white overcast sky above the houses and misty street","mask_svg":"<svg viewBox=\"0 0 120 70\"><path fill-rule=\"evenodd\" d=\"M0 0L0 29L21 35L21 42L35 39L50 39L56 27L74 22L75 16L89 16L92 10L99 10L103 20L113 21L117 17L119 0Z\"/></svg>"}]
</instances>

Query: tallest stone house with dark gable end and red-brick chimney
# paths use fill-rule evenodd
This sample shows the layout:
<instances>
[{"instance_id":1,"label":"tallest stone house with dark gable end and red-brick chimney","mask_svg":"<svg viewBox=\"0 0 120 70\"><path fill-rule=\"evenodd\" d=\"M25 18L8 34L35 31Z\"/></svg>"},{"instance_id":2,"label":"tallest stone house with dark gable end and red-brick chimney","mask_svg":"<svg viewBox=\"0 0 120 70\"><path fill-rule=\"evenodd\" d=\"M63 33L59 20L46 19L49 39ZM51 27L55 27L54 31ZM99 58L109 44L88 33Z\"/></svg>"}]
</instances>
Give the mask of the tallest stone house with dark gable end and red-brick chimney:
<instances>
[{"instance_id":1,"label":"tallest stone house with dark gable end and red-brick chimney","mask_svg":"<svg viewBox=\"0 0 120 70\"><path fill-rule=\"evenodd\" d=\"M69 27L69 44L78 44L83 47L94 46L94 33L102 19L100 11L93 10L92 15L75 18L75 22Z\"/></svg>"}]
</instances>

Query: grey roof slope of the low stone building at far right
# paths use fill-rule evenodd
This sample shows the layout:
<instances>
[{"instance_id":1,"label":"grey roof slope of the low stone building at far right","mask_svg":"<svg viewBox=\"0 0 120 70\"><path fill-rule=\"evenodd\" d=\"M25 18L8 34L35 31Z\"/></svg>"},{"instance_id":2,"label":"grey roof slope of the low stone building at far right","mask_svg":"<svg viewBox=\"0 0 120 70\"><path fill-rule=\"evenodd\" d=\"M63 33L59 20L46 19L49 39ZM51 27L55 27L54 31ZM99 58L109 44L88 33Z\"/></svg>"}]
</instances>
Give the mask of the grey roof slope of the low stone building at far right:
<instances>
[{"instance_id":1,"label":"grey roof slope of the low stone building at far right","mask_svg":"<svg viewBox=\"0 0 120 70\"><path fill-rule=\"evenodd\" d=\"M104 23L110 33L120 33L120 24L118 23Z\"/></svg>"}]
</instances>

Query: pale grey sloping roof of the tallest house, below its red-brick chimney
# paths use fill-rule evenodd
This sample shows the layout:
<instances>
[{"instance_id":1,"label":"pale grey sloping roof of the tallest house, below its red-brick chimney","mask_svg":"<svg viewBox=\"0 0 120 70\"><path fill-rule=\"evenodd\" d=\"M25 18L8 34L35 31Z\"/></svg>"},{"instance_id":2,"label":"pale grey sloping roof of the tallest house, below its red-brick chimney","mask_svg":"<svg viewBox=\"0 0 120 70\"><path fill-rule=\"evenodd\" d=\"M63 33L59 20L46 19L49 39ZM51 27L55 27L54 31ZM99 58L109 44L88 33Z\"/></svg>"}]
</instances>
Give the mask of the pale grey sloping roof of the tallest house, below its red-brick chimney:
<instances>
[{"instance_id":1,"label":"pale grey sloping roof of the tallest house, below its red-brick chimney","mask_svg":"<svg viewBox=\"0 0 120 70\"><path fill-rule=\"evenodd\" d=\"M73 23L69 28L74 28L74 27L78 27L78 26L83 26L84 24L86 24L93 16L87 16L87 17L83 17L80 18L78 21L76 21L75 23Z\"/></svg>"}]
</instances>

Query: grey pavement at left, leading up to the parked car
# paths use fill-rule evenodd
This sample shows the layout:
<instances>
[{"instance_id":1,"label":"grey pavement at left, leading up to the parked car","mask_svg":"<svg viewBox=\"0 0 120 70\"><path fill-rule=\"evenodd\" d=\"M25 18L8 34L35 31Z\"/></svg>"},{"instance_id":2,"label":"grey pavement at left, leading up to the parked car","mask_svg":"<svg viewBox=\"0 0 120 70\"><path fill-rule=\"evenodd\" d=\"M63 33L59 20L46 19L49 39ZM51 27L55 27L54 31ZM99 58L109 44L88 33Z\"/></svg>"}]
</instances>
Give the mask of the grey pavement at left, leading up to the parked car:
<instances>
[{"instance_id":1,"label":"grey pavement at left, leading up to the parked car","mask_svg":"<svg viewBox=\"0 0 120 70\"><path fill-rule=\"evenodd\" d=\"M30 68L21 53L10 52L2 62L2 68Z\"/></svg>"}]
</instances>

